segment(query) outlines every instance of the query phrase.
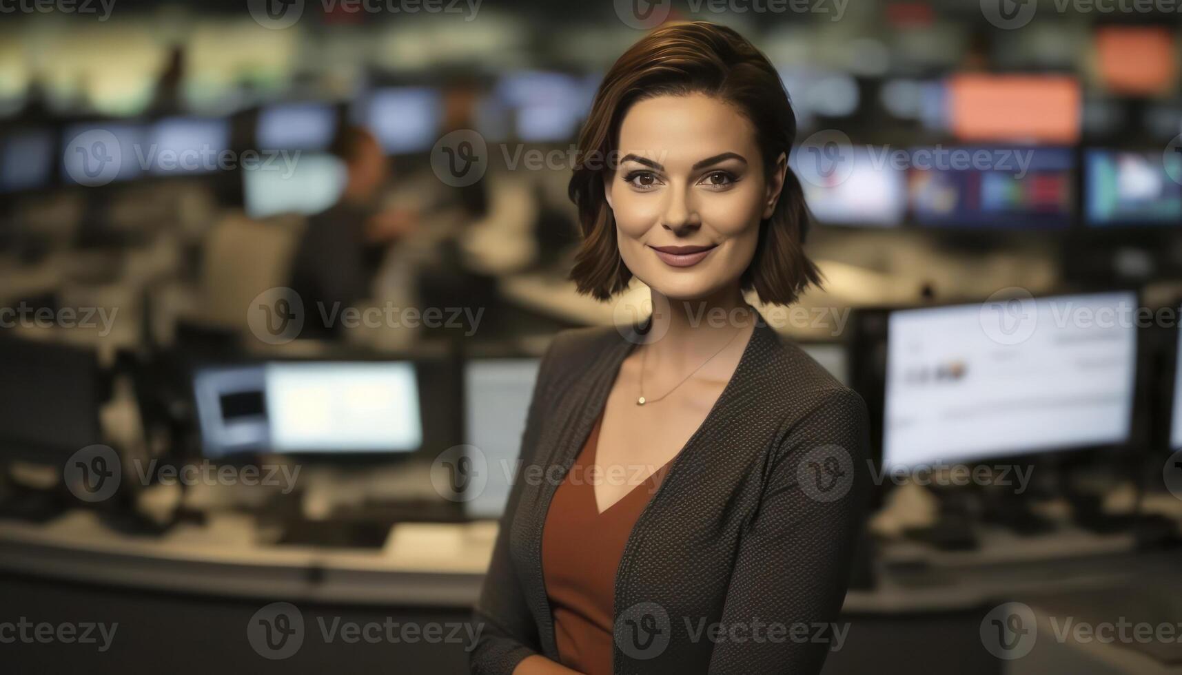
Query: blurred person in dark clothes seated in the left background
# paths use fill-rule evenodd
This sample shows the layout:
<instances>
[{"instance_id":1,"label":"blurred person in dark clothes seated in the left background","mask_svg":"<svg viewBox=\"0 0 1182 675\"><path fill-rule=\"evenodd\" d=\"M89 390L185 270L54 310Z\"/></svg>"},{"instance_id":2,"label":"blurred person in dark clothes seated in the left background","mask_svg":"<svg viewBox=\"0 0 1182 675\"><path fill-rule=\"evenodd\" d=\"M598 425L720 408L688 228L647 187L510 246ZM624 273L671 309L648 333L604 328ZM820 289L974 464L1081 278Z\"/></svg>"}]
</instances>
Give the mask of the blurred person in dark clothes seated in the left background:
<instances>
[{"instance_id":1,"label":"blurred person in dark clothes seated in the left background","mask_svg":"<svg viewBox=\"0 0 1182 675\"><path fill-rule=\"evenodd\" d=\"M388 247L416 221L411 213L381 207L390 168L370 131L344 126L331 151L345 164L345 189L337 203L309 218L292 264L291 287L304 301L305 338L339 337L333 317L370 298Z\"/></svg>"}]
</instances>

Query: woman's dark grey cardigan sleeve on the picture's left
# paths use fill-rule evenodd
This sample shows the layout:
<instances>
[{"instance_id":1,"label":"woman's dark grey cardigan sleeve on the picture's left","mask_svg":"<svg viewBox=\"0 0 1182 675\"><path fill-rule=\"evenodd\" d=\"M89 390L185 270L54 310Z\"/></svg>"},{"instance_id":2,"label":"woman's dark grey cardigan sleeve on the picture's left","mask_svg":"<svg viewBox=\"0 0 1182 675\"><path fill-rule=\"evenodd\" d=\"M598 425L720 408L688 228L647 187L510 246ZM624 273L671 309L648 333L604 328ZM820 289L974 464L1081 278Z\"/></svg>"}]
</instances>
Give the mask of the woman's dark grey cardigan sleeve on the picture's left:
<instances>
[{"instance_id":1,"label":"woman's dark grey cardigan sleeve on the picture's left","mask_svg":"<svg viewBox=\"0 0 1182 675\"><path fill-rule=\"evenodd\" d=\"M509 499L501 514L493 558L485 575L473 612L473 622L482 627L476 645L468 657L468 666L474 675L509 675L525 657L541 653L538 627L525 602L525 595L519 583L513 563L509 558L509 530L513 526L513 512L521 499L522 482L520 473L534 456L538 443L539 423L543 415L543 402L550 401L551 390L547 364L553 361L559 338L554 338L541 359L538 381L530 401L525 433L521 437L521 460L518 475L513 480Z\"/></svg>"}]
</instances>

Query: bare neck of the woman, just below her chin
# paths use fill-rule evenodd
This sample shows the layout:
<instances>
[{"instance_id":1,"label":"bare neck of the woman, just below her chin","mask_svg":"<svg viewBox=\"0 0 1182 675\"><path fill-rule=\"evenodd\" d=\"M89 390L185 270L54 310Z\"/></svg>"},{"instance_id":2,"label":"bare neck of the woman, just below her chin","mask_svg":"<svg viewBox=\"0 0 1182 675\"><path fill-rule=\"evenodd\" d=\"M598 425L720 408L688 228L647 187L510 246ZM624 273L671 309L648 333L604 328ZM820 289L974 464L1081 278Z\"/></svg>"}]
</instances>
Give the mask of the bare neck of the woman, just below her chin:
<instances>
[{"instance_id":1,"label":"bare neck of the woman, just below her chin","mask_svg":"<svg viewBox=\"0 0 1182 675\"><path fill-rule=\"evenodd\" d=\"M671 362L694 361L719 349L736 332L751 330L755 312L739 286L703 298L681 300L650 290L652 327L647 349Z\"/></svg>"}]
</instances>

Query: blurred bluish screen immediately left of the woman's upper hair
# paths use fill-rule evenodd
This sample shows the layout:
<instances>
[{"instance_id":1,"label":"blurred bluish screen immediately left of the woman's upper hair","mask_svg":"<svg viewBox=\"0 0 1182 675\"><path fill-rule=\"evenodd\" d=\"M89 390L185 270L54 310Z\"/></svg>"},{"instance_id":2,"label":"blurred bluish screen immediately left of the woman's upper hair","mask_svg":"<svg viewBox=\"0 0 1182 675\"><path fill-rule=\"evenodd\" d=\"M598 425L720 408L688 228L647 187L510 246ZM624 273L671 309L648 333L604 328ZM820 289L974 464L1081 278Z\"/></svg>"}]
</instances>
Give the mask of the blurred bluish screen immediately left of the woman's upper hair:
<instances>
[{"instance_id":1,"label":"blurred bluish screen immediately left of the woman's upper hair","mask_svg":"<svg viewBox=\"0 0 1182 675\"><path fill-rule=\"evenodd\" d=\"M496 86L515 116L517 136L528 142L567 141L591 110L592 78L526 71L505 76Z\"/></svg>"}]
</instances>

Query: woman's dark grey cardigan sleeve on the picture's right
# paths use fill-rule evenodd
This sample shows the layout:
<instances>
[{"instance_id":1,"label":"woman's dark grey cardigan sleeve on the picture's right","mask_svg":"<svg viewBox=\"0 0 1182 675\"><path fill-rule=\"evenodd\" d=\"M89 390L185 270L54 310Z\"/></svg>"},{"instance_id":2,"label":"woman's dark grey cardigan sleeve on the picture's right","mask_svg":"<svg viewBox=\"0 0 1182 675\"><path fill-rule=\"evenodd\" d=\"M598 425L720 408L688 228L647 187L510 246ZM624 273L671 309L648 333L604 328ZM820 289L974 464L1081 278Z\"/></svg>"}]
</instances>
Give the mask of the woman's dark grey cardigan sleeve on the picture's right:
<instances>
[{"instance_id":1,"label":"woman's dark grey cardigan sleeve on the picture's right","mask_svg":"<svg viewBox=\"0 0 1182 675\"><path fill-rule=\"evenodd\" d=\"M820 673L870 488L869 415L834 390L788 429L739 544L710 673Z\"/></svg>"}]
</instances>

